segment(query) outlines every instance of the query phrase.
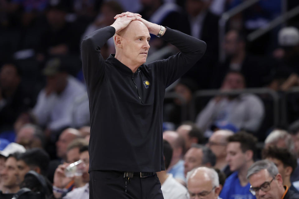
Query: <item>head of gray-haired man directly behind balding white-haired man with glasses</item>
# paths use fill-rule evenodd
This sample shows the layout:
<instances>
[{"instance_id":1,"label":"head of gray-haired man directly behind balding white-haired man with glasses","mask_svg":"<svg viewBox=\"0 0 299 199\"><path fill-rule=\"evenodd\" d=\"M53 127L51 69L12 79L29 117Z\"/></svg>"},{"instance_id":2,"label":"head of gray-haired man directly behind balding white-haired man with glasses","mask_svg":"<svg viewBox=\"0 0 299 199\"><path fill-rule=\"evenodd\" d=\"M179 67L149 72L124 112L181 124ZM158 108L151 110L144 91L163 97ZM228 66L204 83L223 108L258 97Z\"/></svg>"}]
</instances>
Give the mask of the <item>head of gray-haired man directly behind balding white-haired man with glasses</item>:
<instances>
[{"instance_id":1,"label":"head of gray-haired man directly behind balding white-haired man with glasses","mask_svg":"<svg viewBox=\"0 0 299 199\"><path fill-rule=\"evenodd\" d=\"M184 157L184 175L192 169L200 166L213 167L216 163L216 156L206 146L193 144Z\"/></svg>"}]
</instances>

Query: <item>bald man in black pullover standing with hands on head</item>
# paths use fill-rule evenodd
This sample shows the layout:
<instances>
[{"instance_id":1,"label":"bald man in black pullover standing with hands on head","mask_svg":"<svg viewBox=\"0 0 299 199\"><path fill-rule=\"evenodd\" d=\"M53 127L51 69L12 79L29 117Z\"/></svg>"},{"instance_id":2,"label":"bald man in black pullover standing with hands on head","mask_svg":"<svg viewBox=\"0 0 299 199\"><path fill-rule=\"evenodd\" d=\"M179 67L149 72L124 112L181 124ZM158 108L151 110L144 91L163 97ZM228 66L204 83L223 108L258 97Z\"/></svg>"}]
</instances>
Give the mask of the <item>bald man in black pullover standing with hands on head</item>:
<instances>
[{"instance_id":1,"label":"bald man in black pullover standing with hands on head","mask_svg":"<svg viewBox=\"0 0 299 199\"><path fill-rule=\"evenodd\" d=\"M130 12L115 16L81 44L91 132L90 198L163 198L162 110L165 88L202 57L206 43ZM150 34L181 50L145 64ZM116 54L101 47L113 36Z\"/></svg>"}]
</instances>

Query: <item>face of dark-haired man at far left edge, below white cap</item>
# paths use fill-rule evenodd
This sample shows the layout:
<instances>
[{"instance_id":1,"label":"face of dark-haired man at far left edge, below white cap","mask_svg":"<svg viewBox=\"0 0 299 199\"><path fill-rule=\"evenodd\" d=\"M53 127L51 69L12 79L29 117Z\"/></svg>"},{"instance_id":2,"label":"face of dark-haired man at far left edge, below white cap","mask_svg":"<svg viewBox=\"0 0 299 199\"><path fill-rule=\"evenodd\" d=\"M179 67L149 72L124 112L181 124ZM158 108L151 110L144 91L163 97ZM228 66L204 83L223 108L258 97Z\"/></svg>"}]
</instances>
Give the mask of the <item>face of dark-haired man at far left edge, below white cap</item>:
<instances>
[{"instance_id":1,"label":"face of dark-haired man at far left edge, below white cap","mask_svg":"<svg viewBox=\"0 0 299 199\"><path fill-rule=\"evenodd\" d=\"M19 185L20 180L17 170L17 160L14 157L7 158L5 167L1 172L1 181L7 188L16 187Z\"/></svg>"}]
</instances>

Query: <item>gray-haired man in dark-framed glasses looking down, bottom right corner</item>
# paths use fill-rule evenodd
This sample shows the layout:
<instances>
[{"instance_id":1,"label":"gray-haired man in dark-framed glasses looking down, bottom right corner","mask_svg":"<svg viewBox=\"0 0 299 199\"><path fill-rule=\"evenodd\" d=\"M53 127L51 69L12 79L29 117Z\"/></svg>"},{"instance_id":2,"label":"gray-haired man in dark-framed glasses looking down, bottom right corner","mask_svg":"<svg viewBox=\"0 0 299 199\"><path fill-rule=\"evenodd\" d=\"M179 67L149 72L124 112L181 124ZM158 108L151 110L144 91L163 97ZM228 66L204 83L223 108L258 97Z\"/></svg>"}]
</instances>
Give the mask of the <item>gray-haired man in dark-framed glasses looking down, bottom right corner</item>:
<instances>
[{"instance_id":1,"label":"gray-haired man in dark-framed glasses looking down, bottom right corner","mask_svg":"<svg viewBox=\"0 0 299 199\"><path fill-rule=\"evenodd\" d=\"M298 199L299 195L283 186L278 168L269 160L255 162L247 172L251 184L249 191L257 199Z\"/></svg>"}]
</instances>

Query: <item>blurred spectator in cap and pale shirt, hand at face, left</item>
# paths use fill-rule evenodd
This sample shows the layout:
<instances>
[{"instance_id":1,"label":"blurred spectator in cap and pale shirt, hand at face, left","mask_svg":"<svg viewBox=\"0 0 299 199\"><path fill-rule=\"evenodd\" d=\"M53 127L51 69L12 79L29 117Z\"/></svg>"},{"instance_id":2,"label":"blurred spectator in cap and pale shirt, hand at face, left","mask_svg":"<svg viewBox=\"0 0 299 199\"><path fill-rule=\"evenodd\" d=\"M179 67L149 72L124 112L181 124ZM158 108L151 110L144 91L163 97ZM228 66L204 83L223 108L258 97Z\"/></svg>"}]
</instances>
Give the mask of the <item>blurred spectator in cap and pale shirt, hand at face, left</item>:
<instances>
[{"instance_id":1,"label":"blurred spectator in cap and pale shirt, hand at face, left","mask_svg":"<svg viewBox=\"0 0 299 199\"><path fill-rule=\"evenodd\" d=\"M47 84L40 91L33 113L41 126L47 128L47 132L59 132L73 124L73 114L76 100L87 95L82 83L70 76L67 60L62 58L50 59L43 70L47 76ZM88 98L85 99L88 104ZM88 115L89 109L81 111L82 115ZM88 121L89 118L84 118ZM50 133L48 133L50 134ZM49 135L47 135L49 136Z\"/></svg>"}]
</instances>

